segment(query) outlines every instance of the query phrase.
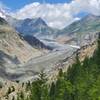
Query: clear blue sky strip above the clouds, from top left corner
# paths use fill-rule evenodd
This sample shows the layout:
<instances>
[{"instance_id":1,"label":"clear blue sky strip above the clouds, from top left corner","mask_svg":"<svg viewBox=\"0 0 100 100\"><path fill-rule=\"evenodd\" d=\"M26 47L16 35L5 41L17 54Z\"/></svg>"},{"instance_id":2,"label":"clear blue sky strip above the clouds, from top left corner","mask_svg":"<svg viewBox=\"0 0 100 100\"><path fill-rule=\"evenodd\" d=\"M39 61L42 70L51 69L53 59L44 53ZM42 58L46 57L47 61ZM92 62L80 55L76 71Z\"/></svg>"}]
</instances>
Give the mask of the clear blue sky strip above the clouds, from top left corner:
<instances>
[{"instance_id":1,"label":"clear blue sky strip above the clouds, from top left corner","mask_svg":"<svg viewBox=\"0 0 100 100\"><path fill-rule=\"evenodd\" d=\"M40 2L40 3L69 3L72 0L0 0L3 4L11 8L12 10L16 10L22 8L23 6L33 3L33 2Z\"/></svg>"}]
</instances>

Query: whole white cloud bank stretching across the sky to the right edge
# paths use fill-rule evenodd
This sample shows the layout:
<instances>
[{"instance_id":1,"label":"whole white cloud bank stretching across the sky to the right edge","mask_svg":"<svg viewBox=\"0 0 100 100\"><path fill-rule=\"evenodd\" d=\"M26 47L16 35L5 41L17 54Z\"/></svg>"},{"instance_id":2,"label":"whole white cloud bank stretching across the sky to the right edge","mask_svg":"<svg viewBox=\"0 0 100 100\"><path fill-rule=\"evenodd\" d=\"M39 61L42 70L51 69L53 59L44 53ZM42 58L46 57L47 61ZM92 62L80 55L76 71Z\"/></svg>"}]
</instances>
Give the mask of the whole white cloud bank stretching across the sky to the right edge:
<instances>
[{"instance_id":1,"label":"whole white cloud bank stretching across the sky to the right edge","mask_svg":"<svg viewBox=\"0 0 100 100\"><path fill-rule=\"evenodd\" d=\"M19 19L41 17L51 27L63 28L74 20L79 19L73 16L81 11L100 15L100 0L73 0L71 3L63 4L40 4L34 2L11 15Z\"/></svg>"}]
</instances>

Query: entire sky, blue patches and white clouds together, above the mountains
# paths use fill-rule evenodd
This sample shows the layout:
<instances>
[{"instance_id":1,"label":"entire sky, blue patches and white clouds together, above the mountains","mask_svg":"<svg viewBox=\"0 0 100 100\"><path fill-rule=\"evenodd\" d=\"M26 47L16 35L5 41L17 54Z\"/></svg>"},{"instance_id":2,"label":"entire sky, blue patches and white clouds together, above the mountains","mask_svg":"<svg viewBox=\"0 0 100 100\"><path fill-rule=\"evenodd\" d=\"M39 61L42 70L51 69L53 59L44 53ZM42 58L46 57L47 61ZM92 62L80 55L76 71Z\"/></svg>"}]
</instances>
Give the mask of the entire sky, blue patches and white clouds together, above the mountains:
<instances>
[{"instance_id":1,"label":"entire sky, blue patches and white clouds together, above the mountains","mask_svg":"<svg viewBox=\"0 0 100 100\"><path fill-rule=\"evenodd\" d=\"M88 14L100 16L100 0L0 0L0 8L17 19L41 17L59 29Z\"/></svg>"}]
</instances>

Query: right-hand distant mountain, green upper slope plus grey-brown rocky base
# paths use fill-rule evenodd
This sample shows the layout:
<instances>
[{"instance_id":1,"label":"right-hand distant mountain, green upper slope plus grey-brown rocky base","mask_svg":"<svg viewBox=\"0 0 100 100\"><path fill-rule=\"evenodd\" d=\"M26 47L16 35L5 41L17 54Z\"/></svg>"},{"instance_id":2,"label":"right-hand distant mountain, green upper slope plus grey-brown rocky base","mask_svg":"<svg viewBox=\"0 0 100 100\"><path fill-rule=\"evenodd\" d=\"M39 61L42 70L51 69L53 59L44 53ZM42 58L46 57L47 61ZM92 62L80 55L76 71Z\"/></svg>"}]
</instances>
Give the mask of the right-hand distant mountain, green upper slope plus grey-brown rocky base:
<instances>
[{"instance_id":1,"label":"right-hand distant mountain, green upper slope plus grey-brown rocky base","mask_svg":"<svg viewBox=\"0 0 100 100\"><path fill-rule=\"evenodd\" d=\"M60 38L66 43L85 45L96 38L100 31L100 16L87 15L84 18L73 22L57 33L57 41ZM70 37L70 39L68 39Z\"/></svg>"}]
</instances>

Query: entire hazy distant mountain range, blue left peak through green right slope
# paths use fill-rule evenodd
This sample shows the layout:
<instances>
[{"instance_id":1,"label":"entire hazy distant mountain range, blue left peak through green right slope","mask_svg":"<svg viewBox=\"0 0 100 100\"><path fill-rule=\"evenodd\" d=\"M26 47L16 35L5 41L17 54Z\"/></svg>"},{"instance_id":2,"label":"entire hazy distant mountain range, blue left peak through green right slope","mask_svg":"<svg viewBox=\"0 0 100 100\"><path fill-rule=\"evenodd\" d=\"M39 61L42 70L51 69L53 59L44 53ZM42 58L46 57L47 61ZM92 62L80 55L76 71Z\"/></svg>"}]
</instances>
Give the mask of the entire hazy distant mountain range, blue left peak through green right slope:
<instances>
[{"instance_id":1,"label":"entire hazy distant mountain range, blue left peak through green right slope","mask_svg":"<svg viewBox=\"0 0 100 100\"><path fill-rule=\"evenodd\" d=\"M47 44L47 42L48 44L51 44L53 40L59 41L59 38L60 40L64 39L64 42L66 43L68 43L69 41L70 43L80 43L80 40L82 40L83 42L84 40L89 40L90 37L93 38L92 35L94 35L94 33L100 31L100 17L94 15L87 15L81 20L75 21L61 30L49 27L41 18L27 18L24 20L13 19L8 21L23 36L32 36L31 39L33 39L33 36L35 36L44 44ZM68 39L68 37L71 37L70 40Z\"/></svg>"}]
</instances>

